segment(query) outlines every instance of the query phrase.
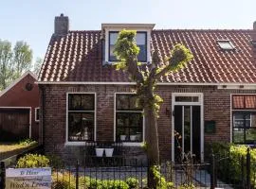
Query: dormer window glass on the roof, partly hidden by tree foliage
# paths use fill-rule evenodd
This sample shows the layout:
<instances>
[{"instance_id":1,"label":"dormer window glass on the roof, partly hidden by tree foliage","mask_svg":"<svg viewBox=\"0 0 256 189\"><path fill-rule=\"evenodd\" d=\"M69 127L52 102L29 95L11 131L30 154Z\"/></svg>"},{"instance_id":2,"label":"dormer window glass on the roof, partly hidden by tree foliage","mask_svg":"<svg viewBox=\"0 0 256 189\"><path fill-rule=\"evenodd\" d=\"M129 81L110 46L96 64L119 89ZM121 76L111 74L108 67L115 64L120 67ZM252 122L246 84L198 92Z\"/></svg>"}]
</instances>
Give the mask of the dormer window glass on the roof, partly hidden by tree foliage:
<instances>
[{"instance_id":1,"label":"dormer window glass on the roof, partly hidden by tree foliage","mask_svg":"<svg viewBox=\"0 0 256 189\"><path fill-rule=\"evenodd\" d=\"M109 32L109 60L117 61L113 51L115 43L118 40L119 32L111 31ZM141 62L147 61L147 32L137 31L136 43L139 47L139 54L137 55L137 60Z\"/></svg>"}]
</instances>

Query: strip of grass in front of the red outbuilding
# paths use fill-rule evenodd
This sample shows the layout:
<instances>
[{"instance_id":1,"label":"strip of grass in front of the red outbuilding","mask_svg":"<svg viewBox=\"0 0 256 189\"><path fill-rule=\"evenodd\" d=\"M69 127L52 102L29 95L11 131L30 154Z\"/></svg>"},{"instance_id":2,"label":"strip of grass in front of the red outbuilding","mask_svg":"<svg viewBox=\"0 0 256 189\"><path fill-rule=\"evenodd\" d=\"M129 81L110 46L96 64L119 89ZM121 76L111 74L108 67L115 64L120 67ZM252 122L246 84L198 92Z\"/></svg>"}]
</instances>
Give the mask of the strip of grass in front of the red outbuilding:
<instances>
[{"instance_id":1,"label":"strip of grass in front of the red outbuilding","mask_svg":"<svg viewBox=\"0 0 256 189\"><path fill-rule=\"evenodd\" d=\"M22 153L32 146L37 146L37 142L31 140L24 140L15 143L0 142L0 161Z\"/></svg>"}]
</instances>

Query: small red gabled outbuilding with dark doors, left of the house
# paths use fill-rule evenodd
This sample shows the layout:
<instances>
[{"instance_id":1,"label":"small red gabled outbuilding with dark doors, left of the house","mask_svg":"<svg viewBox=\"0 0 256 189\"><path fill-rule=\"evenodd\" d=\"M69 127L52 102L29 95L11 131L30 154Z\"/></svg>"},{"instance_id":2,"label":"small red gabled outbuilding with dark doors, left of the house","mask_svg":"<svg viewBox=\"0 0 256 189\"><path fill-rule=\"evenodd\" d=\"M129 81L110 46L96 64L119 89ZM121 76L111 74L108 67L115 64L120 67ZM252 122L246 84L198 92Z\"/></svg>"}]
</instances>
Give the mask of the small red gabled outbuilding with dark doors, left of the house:
<instances>
[{"instance_id":1,"label":"small red gabled outbuilding with dark doors, left of the house","mask_svg":"<svg viewBox=\"0 0 256 189\"><path fill-rule=\"evenodd\" d=\"M39 139L37 77L27 71L0 93L0 141Z\"/></svg>"}]
</instances>

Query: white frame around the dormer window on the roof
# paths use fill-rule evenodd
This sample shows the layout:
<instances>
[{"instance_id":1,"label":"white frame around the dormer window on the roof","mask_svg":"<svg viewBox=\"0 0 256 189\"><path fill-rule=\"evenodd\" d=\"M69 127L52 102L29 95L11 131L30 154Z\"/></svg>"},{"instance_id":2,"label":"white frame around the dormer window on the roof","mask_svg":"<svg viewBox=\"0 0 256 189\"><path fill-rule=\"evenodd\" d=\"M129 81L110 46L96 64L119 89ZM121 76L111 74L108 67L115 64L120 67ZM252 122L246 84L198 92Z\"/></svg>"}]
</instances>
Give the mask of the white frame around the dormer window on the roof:
<instances>
[{"instance_id":1,"label":"white frame around the dormer window on the roof","mask_svg":"<svg viewBox=\"0 0 256 189\"><path fill-rule=\"evenodd\" d=\"M112 64L115 63L116 61L110 61L109 60L109 33L110 32L116 32L116 31L120 31L123 28L105 28L105 62L108 64ZM146 32L146 38L147 38L147 61L146 62L142 62L142 63L148 63L151 60L151 46L150 46L150 39L151 39L151 29L147 29L147 28L133 28L135 30L142 31L142 32Z\"/></svg>"}]
</instances>

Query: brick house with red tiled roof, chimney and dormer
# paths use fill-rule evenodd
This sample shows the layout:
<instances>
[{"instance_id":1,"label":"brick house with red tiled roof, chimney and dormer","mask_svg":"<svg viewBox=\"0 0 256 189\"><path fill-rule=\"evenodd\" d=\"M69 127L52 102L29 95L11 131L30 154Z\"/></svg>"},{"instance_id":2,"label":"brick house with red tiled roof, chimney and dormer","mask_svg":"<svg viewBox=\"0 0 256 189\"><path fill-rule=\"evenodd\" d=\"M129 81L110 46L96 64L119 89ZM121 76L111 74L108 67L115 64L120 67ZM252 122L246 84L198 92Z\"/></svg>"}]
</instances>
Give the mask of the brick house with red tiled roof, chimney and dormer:
<instances>
[{"instance_id":1,"label":"brick house with red tiled roof, chimney and dormer","mask_svg":"<svg viewBox=\"0 0 256 189\"><path fill-rule=\"evenodd\" d=\"M112 64L118 32L137 30L138 60L151 64L174 44L194 59L162 77L156 91L164 102L158 124L161 159L175 160L174 130L183 152L204 161L212 142L256 144L256 24L254 29L154 29L152 24L102 24L101 30L69 30L67 16L55 18L38 85L41 141L46 153L65 160L82 157L90 142L123 145L125 157L143 154L143 110L135 105L135 82Z\"/></svg>"}]
</instances>

